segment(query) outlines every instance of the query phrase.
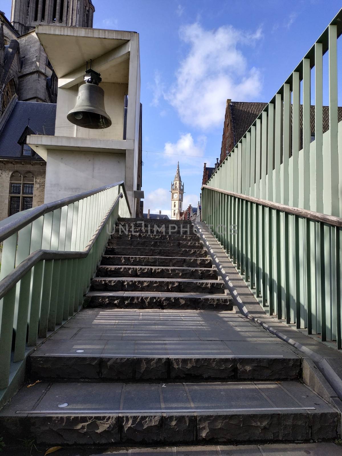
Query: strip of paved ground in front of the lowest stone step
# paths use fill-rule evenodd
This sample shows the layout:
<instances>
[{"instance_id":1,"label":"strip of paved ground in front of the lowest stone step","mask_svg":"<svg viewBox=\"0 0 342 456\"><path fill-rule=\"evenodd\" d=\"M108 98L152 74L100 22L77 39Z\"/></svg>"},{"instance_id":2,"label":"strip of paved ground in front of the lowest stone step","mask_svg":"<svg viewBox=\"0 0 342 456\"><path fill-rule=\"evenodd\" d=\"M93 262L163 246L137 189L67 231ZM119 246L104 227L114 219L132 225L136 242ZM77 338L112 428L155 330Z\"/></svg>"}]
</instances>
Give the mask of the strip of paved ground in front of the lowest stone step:
<instances>
[{"instance_id":1,"label":"strip of paved ground in front of the lowest stone step","mask_svg":"<svg viewBox=\"0 0 342 456\"><path fill-rule=\"evenodd\" d=\"M45 449L33 447L31 456L41 456ZM61 449L56 456L341 456L342 446L334 443L306 443L285 445L239 445L239 446L181 446L163 448L77 448ZM1 456L29 456L30 450L23 447L7 447Z\"/></svg>"}]
</instances>

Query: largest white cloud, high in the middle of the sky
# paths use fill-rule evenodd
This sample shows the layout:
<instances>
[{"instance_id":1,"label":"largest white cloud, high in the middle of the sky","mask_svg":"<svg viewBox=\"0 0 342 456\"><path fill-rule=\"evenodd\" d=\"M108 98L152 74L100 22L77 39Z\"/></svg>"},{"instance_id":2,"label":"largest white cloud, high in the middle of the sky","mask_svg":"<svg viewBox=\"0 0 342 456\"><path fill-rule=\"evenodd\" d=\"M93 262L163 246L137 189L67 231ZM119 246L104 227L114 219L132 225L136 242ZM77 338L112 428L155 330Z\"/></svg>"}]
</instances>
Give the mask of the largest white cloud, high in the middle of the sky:
<instances>
[{"instance_id":1,"label":"largest white cloud, high in the middle of the sky","mask_svg":"<svg viewBox=\"0 0 342 456\"><path fill-rule=\"evenodd\" d=\"M205 30L196 22L181 27L180 36L190 49L164 97L184 124L202 129L220 126L227 98L243 101L259 96L259 70L248 67L238 46L253 47L261 29L253 34L232 26Z\"/></svg>"}]
</instances>

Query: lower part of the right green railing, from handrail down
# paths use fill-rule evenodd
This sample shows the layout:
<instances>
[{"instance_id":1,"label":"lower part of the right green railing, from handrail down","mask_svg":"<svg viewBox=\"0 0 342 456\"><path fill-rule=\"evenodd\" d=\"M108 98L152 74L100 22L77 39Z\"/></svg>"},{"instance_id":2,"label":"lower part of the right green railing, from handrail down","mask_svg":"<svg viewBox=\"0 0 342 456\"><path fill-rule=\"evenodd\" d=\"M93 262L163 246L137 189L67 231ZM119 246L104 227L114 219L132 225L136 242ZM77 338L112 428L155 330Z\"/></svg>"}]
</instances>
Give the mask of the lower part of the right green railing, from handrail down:
<instances>
[{"instance_id":1,"label":"lower part of the right green railing, from handrail down","mask_svg":"<svg viewBox=\"0 0 342 456\"><path fill-rule=\"evenodd\" d=\"M342 218L204 185L202 219L269 315L342 347Z\"/></svg>"}]
</instances>

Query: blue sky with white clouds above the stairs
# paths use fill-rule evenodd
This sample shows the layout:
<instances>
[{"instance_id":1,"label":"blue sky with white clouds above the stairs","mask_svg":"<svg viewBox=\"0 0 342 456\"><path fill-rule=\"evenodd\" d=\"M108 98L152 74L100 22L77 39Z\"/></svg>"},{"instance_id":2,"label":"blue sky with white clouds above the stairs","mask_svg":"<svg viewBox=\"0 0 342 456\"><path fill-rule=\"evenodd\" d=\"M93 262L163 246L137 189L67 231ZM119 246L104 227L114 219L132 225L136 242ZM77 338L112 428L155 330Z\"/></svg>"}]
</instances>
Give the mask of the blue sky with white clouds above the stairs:
<instances>
[{"instance_id":1,"label":"blue sky with white clouds above the stairs","mask_svg":"<svg viewBox=\"0 0 342 456\"><path fill-rule=\"evenodd\" d=\"M10 3L1 2L7 17ZM212 166L220 154L226 99L268 102L342 6L337 0L93 4L94 27L140 34L144 208L165 213L178 160L184 206L197 205L203 162Z\"/></svg>"}]
</instances>

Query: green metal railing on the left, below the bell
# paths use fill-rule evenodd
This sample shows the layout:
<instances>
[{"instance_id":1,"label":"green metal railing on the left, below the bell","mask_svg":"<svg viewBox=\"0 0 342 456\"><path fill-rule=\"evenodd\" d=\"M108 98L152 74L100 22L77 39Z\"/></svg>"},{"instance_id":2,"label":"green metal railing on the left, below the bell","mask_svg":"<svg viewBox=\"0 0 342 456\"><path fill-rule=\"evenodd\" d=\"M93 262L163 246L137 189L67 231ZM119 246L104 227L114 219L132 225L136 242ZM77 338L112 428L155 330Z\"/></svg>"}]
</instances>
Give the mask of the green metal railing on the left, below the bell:
<instances>
[{"instance_id":1,"label":"green metal railing on the left, below the bell","mask_svg":"<svg viewBox=\"0 0 342 456\"><path fill-rule=\"evenodd\" d=\"M0 228L0 390L29 347L80 309L118 216L131 216L123 181L43 204Z\"/></svg>"}]
</instances>

